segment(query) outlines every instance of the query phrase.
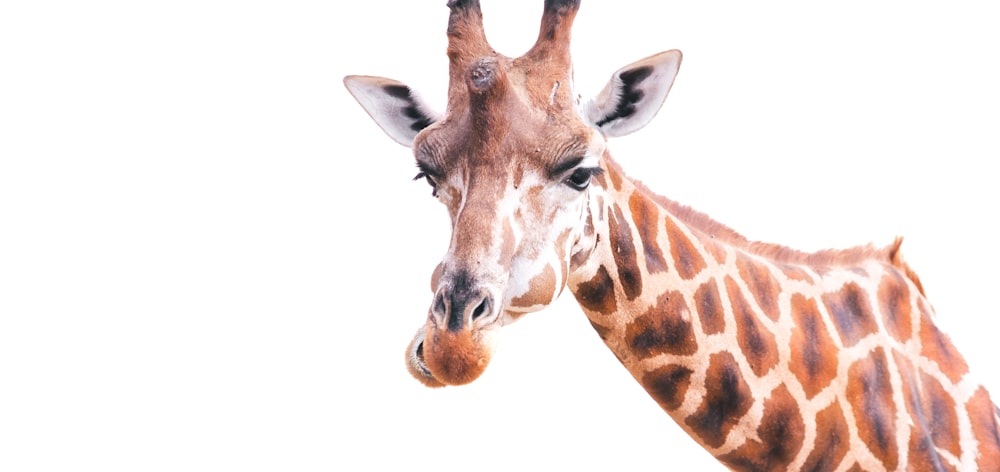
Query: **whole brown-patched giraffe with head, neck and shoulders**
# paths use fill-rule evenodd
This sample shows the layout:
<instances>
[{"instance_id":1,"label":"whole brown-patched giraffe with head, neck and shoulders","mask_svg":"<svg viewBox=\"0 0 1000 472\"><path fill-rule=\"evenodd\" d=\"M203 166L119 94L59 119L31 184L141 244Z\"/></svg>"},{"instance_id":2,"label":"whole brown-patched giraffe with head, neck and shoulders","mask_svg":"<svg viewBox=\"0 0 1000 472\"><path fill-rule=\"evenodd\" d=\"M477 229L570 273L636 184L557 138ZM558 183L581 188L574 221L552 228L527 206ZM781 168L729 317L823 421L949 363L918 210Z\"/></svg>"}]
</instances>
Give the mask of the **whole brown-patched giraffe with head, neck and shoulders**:
<instances>
[{"instance_id":1,"label":"whole brown-patched giraffe with head, neck and shoulders","mask_svg":"<svg viewBox=\"0 0 1000 472\"><path fill-rule=\"evenodd\" d=\"M448 4L445 113L401 82L345 85L410 147L452 237L406 350L425 385L478 378L499 329L568 288L675 422L732 470L1000 470L1000 410L934 324L900 252L752 242L630 179L609 138L645 126L681 62L666 51L575 95L578 0L546 0L518 58L476 0Z\"/></svg>"}]
</instances>

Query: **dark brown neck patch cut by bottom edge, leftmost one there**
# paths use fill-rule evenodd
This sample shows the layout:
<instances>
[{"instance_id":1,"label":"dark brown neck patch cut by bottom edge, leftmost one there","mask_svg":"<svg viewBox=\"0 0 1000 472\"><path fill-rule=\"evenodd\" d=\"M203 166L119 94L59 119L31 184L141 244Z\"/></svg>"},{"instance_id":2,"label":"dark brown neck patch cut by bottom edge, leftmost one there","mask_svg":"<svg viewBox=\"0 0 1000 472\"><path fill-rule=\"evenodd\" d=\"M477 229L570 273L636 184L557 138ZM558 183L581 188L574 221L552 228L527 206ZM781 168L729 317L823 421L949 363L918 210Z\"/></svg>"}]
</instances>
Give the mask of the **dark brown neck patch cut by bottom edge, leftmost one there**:
<instances>
[{"instance_id":1,"label":"dark brown neck patch cut by bottom edge, leftmost one there","mask_svg":"<svg viewBox=\"0 0 1000 472\"><path fill-rule=\"evenodd\" d=\"M764 416L757 428L760 441L748 440L719 460L732 470L786 470L802 449L805 423L799 404L781 385L764 402Z\"/></svg>"}]
</instances>

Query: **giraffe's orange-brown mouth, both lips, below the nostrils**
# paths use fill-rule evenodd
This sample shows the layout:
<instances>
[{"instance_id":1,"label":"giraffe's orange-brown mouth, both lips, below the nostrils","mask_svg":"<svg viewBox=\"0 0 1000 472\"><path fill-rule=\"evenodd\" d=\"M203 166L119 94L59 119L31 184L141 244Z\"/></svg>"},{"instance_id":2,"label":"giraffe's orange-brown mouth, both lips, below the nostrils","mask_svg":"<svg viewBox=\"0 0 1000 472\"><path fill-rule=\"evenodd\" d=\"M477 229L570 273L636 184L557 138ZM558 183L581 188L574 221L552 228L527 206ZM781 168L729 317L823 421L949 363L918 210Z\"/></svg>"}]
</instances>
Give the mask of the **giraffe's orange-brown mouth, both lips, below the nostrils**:
<instances>
[{"instance_id":1,"label":"giraffe's orange-brown mouth, both lips, below the nostrils","mask_svg":"<svg viewBox=\"0 0 1000 472\"><path fill-rule=\"evenodd\" d=\"M406 350L407 369L428 387L471 383L490 363L496 331L494 327L457 332L421 328Z\"/></svg>"}]
</instances>

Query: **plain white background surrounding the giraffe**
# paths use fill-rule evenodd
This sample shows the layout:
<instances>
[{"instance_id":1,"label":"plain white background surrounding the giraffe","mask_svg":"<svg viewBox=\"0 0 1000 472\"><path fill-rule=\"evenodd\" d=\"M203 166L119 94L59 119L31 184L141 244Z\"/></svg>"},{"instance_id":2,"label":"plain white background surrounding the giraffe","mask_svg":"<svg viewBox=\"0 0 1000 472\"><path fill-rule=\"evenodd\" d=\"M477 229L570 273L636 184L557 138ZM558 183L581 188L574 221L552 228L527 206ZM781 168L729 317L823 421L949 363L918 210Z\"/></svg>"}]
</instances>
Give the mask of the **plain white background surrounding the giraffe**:
<instances>
[{"instance_id":1,"label":"plain white background surrounding the giraffe","mask_svg":"<svg viewBox=\"0 0 1000 472\"><path fill-rule=\"evenodd\" d=\"M425 389L444 209L341 85L443 106L445 0L0 6L0 470L719 470L570 297ZM519 55L541 1L485 1ZM877 5L876 5L877 3ZM1000 395L988 2L598 2L578 89L665 49L626 171L752 239L906 236Z\"/></svg>"}]
</instances>

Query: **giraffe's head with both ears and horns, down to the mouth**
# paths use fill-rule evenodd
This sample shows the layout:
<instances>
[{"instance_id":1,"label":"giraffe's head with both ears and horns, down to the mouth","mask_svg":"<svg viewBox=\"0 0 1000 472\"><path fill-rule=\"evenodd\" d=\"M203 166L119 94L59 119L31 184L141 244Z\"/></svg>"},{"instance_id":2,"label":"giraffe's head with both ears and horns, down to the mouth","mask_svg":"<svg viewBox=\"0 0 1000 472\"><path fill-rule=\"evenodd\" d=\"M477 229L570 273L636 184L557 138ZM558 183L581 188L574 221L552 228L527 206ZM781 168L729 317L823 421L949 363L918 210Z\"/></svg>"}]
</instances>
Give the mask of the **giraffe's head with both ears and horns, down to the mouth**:
<instances>
[{"instance_id":1,"label":"giraffe's head with both ears and horns, down to the mouth","mask_svg":"<svg viewBox=\"0 0 1000 472\"><path fill-rule=\"evenodd\" d=\"M429 386L479 377L500 327L559 296L593 248L592 196L606 139L644 126L680 65L668 51L618 70L594 99L573 91L570 27L579 0L546 0L523 56L486 41L478 0L451 0L448 103L439 114L408 86L349 76L348 90L392 139L413 150L419 174L451 216L433 272L427 320L407 350Z\"/></svg>"}]
</instances>

